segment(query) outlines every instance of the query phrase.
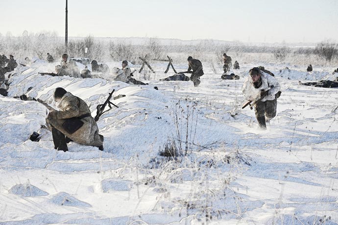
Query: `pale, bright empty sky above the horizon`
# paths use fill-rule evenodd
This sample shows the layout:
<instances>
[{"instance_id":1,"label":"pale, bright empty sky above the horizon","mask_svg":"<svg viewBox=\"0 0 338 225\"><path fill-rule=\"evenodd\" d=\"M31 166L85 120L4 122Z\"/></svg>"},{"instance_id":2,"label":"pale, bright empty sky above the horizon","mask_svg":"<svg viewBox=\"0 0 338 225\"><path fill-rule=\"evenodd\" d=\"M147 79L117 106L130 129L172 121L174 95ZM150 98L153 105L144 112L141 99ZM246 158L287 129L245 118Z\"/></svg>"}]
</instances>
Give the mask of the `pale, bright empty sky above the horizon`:
<instances>
[{"instance_id":1,"label":"pale, bright empty sky above the horizon","mask_svg":"<svg viewBox=\"0 0 338 225\"><path fill-rule=\"evenodd\" d=\"M0 33L65 35L66 0L0 0ZM68 35L241 42L338 40L338 0L68 0Z\"/></svg>"}]
</instances>

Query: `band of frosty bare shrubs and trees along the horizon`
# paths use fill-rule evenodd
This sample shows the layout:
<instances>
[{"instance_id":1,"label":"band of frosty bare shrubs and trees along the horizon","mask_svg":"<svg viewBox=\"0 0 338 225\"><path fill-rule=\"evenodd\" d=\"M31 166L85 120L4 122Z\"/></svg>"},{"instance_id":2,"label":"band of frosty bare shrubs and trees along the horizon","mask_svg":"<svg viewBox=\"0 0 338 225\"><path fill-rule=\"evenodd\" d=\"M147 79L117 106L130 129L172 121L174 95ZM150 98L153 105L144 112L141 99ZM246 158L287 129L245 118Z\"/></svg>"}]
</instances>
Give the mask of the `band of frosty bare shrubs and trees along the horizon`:
<instances>
[{"instance_id":1,"label":"band of frosty bare shrubs and trees along the horizon","mask_svg":"<svg viewBox=\"0 0 338 225\"><path fill-rule=\"evenodd\" d=\"M338 46L330 41L318 43L311 47L288 47L286 44L272 46L249 46L243 43L221 44L216 41L201 40L194 45L161 45L161 39L149 38L145 44L133 44L131 39L110 40L109 38L69 38L68 54L74 57L88 57L98 61L139 61L139 57L148 55L149 59L165 59L169 54L175 63L186 63L191 55L203 61L221 61L221 55L227 52L234 60L245 63L255 63L257 60L281 63L299 64L327 64L338 58ZM262 44L261 44L262 45ZM88 52L85 53L85 48ZM47 52L55 59L61 58L66 52L64 38L53 33L30 34L22 37L0 36L0 54L12 54L16 59L38 57L46 59ZM265 57L253 54L265 54ZM249 55L246 55L249 54ZM272 57L271 57L272 56ZM335 66L335 65L333 65Z\"/></svg>"}]
</instances>

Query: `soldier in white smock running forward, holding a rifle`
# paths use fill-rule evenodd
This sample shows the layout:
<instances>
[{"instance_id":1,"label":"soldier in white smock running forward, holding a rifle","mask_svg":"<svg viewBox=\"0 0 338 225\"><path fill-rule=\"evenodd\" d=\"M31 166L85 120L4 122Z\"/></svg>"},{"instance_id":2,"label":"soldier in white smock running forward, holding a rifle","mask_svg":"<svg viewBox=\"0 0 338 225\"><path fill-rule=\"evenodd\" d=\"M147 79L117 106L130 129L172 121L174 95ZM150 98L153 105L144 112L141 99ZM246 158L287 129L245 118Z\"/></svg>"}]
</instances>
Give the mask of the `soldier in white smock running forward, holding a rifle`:
<instances>
[{"instance_id":1,"label":"soldier in white smock running forward, holding a rifle","mask_svg":"<svg viewBox=\"0 0 338 225\"><path fill-rule=\"evenodd\" d=\"M243 94L246 100L260 101L254 104L256 119L262 129L266 129L266 122L276 116L277 98L280 86L274 76L254 67L243 83Z\"/></svg>"}]
</instances>

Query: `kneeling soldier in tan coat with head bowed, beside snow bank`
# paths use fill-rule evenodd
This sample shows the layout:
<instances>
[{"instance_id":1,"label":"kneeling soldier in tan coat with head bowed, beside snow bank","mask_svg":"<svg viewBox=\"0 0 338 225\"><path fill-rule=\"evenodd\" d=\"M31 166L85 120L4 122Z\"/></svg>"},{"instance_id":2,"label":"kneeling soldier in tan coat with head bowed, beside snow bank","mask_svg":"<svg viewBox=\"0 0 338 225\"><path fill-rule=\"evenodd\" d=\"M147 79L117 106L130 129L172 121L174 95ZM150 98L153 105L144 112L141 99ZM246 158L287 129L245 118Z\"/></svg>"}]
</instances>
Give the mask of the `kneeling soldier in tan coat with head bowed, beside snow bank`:
<instances>
[{"instance_id":1,"label":"kneeling soldier in tan coat with head bowed, beside snow bank","mask_svg":"<svg viewBox=\"0 0 338 225\"><path fill-rule=\"evenodd\" d=\"M56 88L54 100L60 110L50 110L46 121L51 125L54 148L68 151L67 143L95 146L103 150L103 136L87 104L63 88Z\"/></svg>"}]
</instances>

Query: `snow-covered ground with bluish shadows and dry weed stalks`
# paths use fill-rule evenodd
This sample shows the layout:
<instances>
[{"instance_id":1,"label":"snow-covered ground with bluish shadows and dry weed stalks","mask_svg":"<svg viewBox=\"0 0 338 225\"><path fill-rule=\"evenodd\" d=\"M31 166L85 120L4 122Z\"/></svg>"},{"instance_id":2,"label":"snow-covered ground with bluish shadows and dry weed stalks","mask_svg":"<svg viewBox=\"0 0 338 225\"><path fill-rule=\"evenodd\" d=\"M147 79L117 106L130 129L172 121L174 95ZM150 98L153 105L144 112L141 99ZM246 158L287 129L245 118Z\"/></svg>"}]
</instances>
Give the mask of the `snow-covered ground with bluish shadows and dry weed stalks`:
<instances>
[{"instance_id":1,"label":"snow-covered ground with bluish shadows and dry weed stalks","mask_svg":"<svg viewBox=\"0 0 338 225\"><path fill-rule=\"evenodd\" d=\"M262 131L254 110L241 109L244 78L259 65L243 64L239 80L222 80L222 65L215 74L202 62L194 88L158 81L173 75L164 74L166 63L151 63L155 74L135 73L144 86L38 74L56 64L17 69L8 97L0 96L1 225L338 224L338 89L298 84L333 80L333 68L263 64L282 95ZM28 139L45 125L47 109L13 97L55 107L56 87L85 100L92 116L113 89L126 95L97 122L104 151L76 143L56 151L46 130L40 142ZM160 156L172 142L183 155Z\"/></svg>"}]
</instances>

